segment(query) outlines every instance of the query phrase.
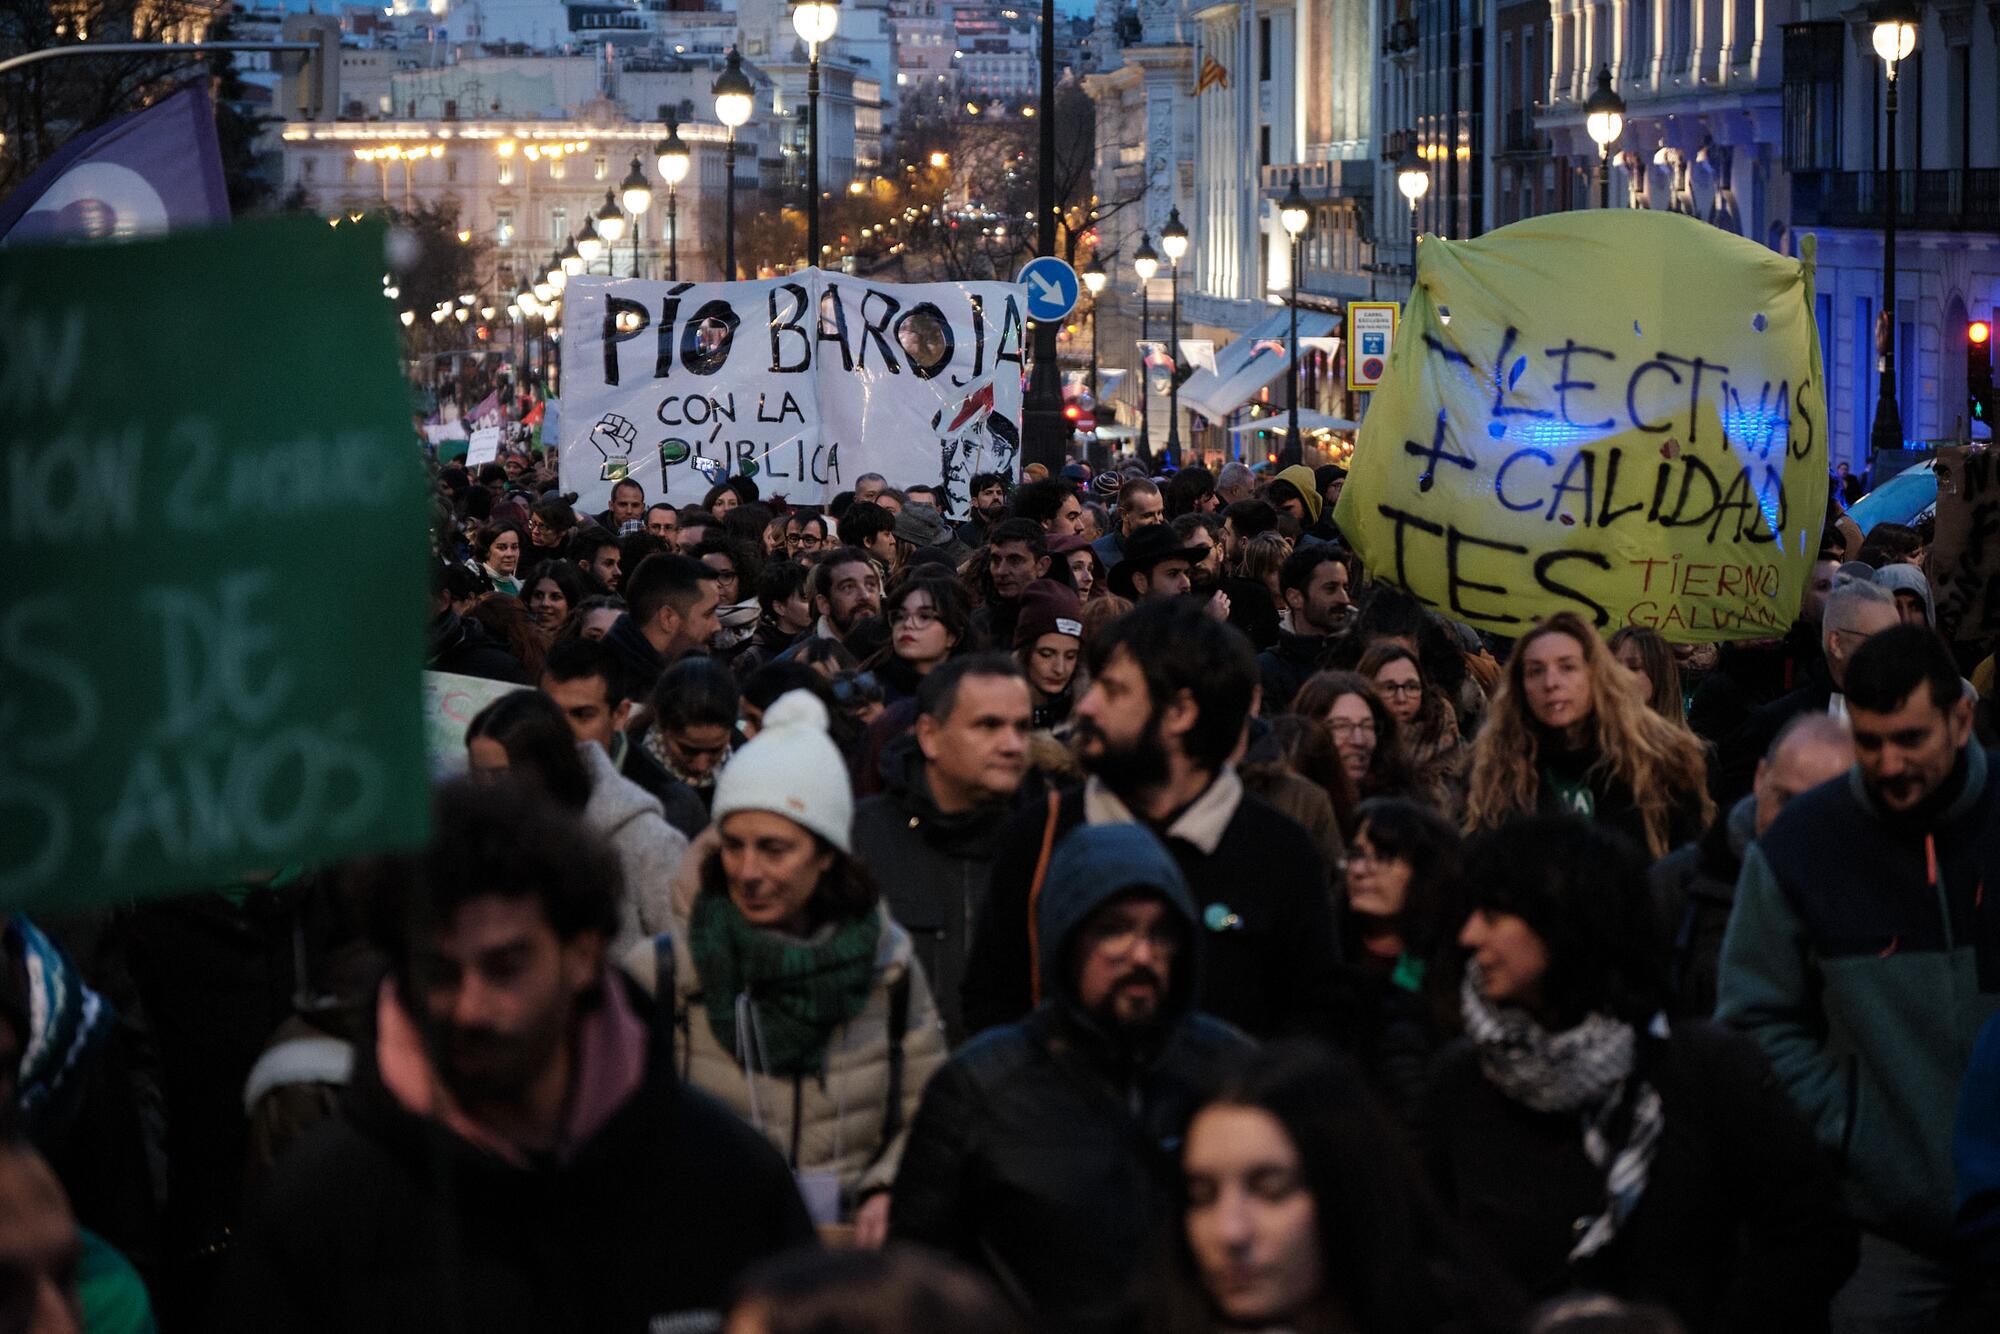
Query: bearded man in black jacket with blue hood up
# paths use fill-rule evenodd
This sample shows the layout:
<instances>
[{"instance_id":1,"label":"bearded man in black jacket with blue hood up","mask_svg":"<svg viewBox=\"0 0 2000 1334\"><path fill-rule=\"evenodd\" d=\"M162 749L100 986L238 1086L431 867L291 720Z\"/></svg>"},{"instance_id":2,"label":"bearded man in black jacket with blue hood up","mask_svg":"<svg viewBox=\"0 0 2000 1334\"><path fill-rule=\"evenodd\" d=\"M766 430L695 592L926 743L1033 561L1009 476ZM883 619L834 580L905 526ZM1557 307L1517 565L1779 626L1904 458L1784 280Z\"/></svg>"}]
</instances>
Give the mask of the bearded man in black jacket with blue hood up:
<instances>
[{"instance_id":1,"label":"bearded man in black jacket with blue hood up","mask_svg":"<svg viewBox=\"0 0 2000 1334\"><path fill-rule=\"evenodd\" d=\"M1202 928L1142 826L1062 838L1034 914L1046 1000L930 1078L890 1236L982 1268L1032 1328L1094 1334L1130 1318L1180 1136L1250 1044L1194 1012Z\"/></svg>"}]
</instances>

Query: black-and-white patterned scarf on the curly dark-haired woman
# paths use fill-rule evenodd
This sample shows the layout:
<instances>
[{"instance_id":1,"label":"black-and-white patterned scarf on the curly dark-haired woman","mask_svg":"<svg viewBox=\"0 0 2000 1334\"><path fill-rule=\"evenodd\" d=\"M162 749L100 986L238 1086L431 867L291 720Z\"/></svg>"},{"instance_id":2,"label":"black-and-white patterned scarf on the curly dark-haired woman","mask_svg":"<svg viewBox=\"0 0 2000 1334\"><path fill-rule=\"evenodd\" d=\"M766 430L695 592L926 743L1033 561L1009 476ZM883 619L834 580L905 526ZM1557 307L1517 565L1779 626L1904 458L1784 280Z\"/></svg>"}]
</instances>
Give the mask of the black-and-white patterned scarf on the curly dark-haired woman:
<instances>
[{"instance_id":1,"label":"black-and-white patterned scarf on the curly dark-haired woman","mask_svg":"<svg viewBox=\"0 0 2000 1334\"><path fill-rule=\"evenodd\" d=\"M1530 1110L1582 1118L1584 1156L1604 1168L1604 1210L1570 1248L1570 1260L1594 1256L1638 1208L1666 1126L1660 1092L1652 1084L1638 1080L1628 1090L1638 1034L1604 1014L1550 1034L1524 1010L1492 1006L1476 962L1466 966L1458 1008L1466 1036L1478 1048L1480 1072L1494 1088ZM1654 1032L1666 1036L1664 1016L1654 1020ZM1620 1108L1628 1102L1632 1118L1624 1144L1612 1144Z\"/></svg>"}]
</instances>

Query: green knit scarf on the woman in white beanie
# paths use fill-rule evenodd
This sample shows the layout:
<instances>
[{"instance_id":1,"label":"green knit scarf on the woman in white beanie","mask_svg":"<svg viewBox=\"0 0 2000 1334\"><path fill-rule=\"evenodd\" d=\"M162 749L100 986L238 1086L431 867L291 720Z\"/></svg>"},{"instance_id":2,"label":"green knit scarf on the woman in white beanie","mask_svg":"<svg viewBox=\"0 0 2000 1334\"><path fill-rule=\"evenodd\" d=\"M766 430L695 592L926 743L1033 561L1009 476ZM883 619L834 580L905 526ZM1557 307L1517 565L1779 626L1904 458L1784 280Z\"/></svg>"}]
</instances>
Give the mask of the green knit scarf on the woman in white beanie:
<instances>
[{"instance_id":1,"label":"green knit scarf on the woman in white beanie","mask_svg":"<svg viewBox=\"0 0 2000 1334\"><path fill-rule=\"evenodd\" d=\"M818 940L792 940L758 930L724 890L702 890L688 920L688 952L702 978L702 1008L716 1042L750 1068L770 1074L814 1074L826 1064L834 1028L868 1004L874 984L882 916L864 912ZM736 1032L736 998L756 1008L756 1032Z\"/></svg>"}]
</instances>

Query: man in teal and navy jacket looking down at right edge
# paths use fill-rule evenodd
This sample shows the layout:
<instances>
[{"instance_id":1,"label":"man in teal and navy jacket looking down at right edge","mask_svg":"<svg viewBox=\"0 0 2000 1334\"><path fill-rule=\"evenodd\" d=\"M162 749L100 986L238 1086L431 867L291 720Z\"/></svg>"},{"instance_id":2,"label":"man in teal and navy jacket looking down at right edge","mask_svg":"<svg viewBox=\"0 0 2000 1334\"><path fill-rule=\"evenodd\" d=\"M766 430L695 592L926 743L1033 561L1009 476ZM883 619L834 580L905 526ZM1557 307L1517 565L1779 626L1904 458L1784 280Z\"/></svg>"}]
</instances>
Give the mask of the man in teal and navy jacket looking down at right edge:
<instances>
[{"instance_id":1,"label":"man in teal and navy jacket looking down at right edge","mask_svg":"<svg viewBox=\"0 0 2000 1334\"><path fill-rule=\"evenodd\" d=\"M1918 1330L1962 1286L1952 1114L2000 1010L2000 782L1930 630L1864 642L1846 704L1854 770L1744 856L1716 1018L1764 1048L1840 1158L1864 1236L1834 1328Z\"/></svg>"}]
</instances>

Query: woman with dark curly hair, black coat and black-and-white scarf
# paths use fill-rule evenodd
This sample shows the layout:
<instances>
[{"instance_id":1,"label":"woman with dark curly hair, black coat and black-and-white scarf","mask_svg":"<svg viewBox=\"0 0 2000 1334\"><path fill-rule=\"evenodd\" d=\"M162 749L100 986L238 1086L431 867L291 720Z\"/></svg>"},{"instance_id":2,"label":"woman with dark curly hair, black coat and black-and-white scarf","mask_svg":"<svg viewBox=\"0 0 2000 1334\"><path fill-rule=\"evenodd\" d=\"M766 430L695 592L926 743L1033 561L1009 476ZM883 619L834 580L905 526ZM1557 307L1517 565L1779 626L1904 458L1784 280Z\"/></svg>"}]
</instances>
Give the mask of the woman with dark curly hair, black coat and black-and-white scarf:
<instances>
[{"instance_id":1,"label":"woman with dark curly hair, black coat and black-and-white scarf","mask_svg":"<svg viewBox=\"0 0 2000 1334\"><path fill-rule=\"evenodd\" d=\"M1826 1328L1856 1256L1832 1170L1754 1042L1668 1026L1638 850L1574 816L1514 820L1466 844L1464 886L1466 1042L1424 1118L1444 1206L1532 1296Z\"/></svg>"}]
</instances>

